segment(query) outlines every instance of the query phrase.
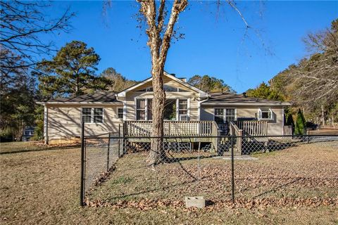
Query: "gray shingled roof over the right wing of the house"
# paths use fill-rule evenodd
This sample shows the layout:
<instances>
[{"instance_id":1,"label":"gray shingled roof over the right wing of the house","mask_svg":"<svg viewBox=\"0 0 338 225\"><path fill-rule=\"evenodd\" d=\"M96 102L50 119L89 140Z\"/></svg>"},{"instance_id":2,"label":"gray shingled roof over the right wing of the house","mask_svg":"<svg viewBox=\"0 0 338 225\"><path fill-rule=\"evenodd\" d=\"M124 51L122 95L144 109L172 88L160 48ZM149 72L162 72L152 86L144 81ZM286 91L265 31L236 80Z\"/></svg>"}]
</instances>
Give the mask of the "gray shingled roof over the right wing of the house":
<instances>
[{"instance_id":1,"label":"gray shingled roof over the right wing of the house","mask_svg":"<svg viewBox=\"0 0 338 225\"><path fill-rule=\"evenodd\" d=\"M290 105L283 101L273 101L263 98L251 98L243 94L213 93L202 105Z\"/></svg>"}]
</instances>

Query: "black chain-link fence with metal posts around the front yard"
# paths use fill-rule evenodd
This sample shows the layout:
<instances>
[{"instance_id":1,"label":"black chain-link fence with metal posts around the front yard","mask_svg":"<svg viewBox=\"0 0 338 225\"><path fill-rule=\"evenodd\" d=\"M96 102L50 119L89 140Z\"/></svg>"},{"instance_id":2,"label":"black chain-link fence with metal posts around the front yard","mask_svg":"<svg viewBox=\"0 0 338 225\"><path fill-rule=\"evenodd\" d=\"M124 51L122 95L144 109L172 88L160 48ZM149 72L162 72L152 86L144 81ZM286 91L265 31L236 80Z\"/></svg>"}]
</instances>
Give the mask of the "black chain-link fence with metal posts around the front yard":
<instances>
[{"instance_id":1,"label":"black chain-link fence with metal posts around the front yard","mask_svg":"<svg viewBox=\"0 0 338 225\"><path fill-rule=\"evenodd\" d=\"M82 204L332 200L338 136L84 137ZM158 154L151 143L160 141ZM158 156L158 165L149 166ZM85 194L85 196L84 196Z\"/></svg>"}]
</instances>

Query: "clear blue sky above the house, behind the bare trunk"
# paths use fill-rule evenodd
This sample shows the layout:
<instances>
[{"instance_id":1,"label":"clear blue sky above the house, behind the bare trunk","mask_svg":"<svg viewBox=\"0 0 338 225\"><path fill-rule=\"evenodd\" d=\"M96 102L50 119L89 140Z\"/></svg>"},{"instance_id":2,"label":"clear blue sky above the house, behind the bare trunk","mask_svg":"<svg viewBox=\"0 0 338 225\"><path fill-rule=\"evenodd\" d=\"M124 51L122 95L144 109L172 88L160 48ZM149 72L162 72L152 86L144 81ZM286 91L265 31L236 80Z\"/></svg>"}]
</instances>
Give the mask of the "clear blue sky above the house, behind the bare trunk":
<instances>
[{"instance_id":1,"label":"clear blue sky above the house, behind the bare trunk","mask_svg":"<svg viewBox=\"0 0 338 225\"><path fill-rule=\"evenodd\" d=\"M149 77L151 58L134 1L113 1L107 15L102 1L56 1L46 13L58 15L68 6L76 13L73 29L45 39L58 47L72 40L94 47L101 56L98 72L112 67L128 79ZM241 93L307 56L301 39L338 18L338 1L237 1L237 6L252 27L247 33L230 6L217 10L213 1L189 1L177 23L185 38L171 45L165 70L177 77L218 77Z\"/></svg>"}]
</instances>

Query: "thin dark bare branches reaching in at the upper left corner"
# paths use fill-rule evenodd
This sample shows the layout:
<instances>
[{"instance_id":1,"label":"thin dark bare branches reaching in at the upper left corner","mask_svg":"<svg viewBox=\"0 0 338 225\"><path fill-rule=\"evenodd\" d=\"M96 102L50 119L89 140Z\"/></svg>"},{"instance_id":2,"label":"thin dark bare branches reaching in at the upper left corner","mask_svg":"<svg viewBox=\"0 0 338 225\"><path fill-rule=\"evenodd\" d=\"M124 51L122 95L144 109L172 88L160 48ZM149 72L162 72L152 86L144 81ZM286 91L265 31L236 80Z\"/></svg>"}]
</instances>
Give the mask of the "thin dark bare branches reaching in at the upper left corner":
<instances>
[{"instance_id":1,"label":"thin dark bare branches reaching in at the upper left corner","mask_svg":"<svg viewBox=\"0 0 338 225\"><path fill-rule=\"evenodd\" d=\"M58 18L45 15L44 8L51 6L46 1L0 1L0 6L0 48L21 56L20 68L30 68L37 63L36 56L56 51L54 43L42 41L39 34L68 32L69 20L74 16L69 8ZM4 64L18 67L9 66L9 61Z\"/></svg>"}]
</instances>

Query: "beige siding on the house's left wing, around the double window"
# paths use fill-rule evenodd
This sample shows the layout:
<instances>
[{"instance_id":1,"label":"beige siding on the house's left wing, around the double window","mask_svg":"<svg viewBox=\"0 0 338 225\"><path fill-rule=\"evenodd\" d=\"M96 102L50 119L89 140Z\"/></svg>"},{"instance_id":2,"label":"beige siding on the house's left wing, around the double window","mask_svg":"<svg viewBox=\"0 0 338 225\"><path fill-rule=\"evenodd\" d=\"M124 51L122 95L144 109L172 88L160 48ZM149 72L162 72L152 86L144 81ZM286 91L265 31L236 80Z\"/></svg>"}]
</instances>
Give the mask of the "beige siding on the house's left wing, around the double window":
<instances>
[{"instance_id":1,"label":"beige siding on the house's left wing, around the double window","mask_svg":"<svg viewBox=\"0 0 338 225\"><path fill-rule=\"evenodd\" d=\"M48 106L48 136L49 141L68 139L81 134L81 108L104 108L103 123L86 123L85 135L99 135L108 132L117 132L117 108L120 105L49 105Z\"/></svg>"}]
</instances>

